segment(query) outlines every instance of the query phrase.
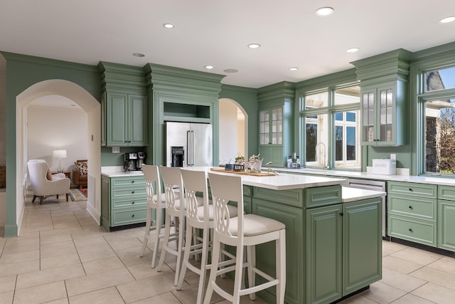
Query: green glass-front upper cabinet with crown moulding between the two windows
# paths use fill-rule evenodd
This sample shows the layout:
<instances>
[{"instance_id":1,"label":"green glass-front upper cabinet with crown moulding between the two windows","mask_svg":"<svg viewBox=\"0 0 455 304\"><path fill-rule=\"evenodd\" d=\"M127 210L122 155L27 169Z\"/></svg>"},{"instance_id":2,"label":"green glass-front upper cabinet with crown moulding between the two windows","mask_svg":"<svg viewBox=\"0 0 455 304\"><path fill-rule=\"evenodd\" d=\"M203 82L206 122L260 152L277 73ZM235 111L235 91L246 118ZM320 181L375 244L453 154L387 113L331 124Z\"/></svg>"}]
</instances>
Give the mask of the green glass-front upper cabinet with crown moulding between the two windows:
<instances>
[{"instance_id":1,"label":"green glass-front upper cabinet with crown moulding between the two windows","mask_svg":"<svg viewBox=\"0 0 455 304\"><path fill-rule=\"evenodd\" d=\"M362 145L407 145L409 54L400 49L353 62L361 88Z\"/></svg>"}]
</instances>

